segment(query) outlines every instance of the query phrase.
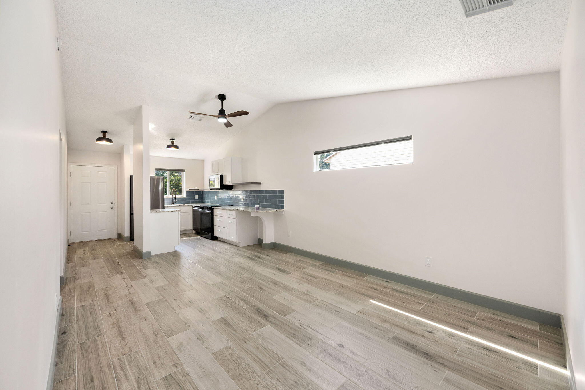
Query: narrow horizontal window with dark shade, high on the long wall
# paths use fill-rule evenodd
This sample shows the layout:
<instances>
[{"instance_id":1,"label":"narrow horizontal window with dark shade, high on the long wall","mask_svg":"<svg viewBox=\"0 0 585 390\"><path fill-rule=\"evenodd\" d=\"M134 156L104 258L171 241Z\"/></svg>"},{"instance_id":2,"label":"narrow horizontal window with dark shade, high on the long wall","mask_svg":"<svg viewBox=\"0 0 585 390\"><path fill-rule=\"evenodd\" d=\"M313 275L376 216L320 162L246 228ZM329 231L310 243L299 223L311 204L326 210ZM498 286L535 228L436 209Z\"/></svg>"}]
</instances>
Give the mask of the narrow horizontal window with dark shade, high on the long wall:
<instances>
[{"instance_id":1,"label":"narrow horizontal window with dark shade, high on the long wall","mask_svg":"<svg viewBox=\"0 0 585 390\"><path fill-rule=\"evenodd\" d=\"M315 171L412 164L412 136L319 150Z\"/></svg>"}]
</instances>

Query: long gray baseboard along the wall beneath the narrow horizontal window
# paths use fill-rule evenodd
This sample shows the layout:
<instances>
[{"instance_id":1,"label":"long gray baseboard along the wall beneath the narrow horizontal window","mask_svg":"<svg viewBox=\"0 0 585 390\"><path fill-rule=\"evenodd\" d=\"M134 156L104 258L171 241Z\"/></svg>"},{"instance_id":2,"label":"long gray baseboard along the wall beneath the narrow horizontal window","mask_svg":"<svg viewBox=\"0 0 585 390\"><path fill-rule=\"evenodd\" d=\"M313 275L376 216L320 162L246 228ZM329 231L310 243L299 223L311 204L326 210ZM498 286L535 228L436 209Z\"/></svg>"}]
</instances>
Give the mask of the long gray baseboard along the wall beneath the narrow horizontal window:
<instances>
[{"instance_id":1,"label":"long gray baseboard along the wall beneath the narrow horizontal window","mask_svg":"<svg viewBox=\"0 0 585 390\"><path fill-rule=\"evenodd\" d=\"M508 313L517 317L536 321L550 326L560 328L560 315L557 313L547 312L546 310L531 308L530 306L520 305L519 303L504 301L503 299L492 298L491 296L476 294L475 292L465 291L455 287L429 282L423 279L409 277L407 275L397 274L395 272L380 270L379 268L370 267L369 265L353 263L352 261L342 260L340 258L326 256L320 253L310 252L304 249L291 247L280 243L271 243L276 249L300 254L314 260L323 261L324 263L339 265L340 267L349 268L350 270L363 272L364 274L373 275L379 278L391 280L411 287L420 288L435 294L449 296L449 298L459 299L459 301L473 303L473 305L483 306L484 308L497 310L498 312Z\"/></svg>"}]
</instances>

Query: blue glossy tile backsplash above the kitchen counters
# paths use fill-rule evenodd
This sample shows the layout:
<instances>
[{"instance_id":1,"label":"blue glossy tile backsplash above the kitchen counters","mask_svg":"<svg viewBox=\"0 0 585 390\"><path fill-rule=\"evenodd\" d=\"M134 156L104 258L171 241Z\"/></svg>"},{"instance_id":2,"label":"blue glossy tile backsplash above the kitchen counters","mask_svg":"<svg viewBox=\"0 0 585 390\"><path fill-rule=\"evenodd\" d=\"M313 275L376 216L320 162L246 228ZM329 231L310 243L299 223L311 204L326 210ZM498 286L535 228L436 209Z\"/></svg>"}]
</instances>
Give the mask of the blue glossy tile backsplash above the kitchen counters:
<instances>
[{"instance_id":1,"label":"blue glossy tile backsplash above the kitchen counters","mask_svg":"<svg viewBox=\"0 0 585 390\"><path fill-rule=\"evenodd\" d=\"M198 199L195 199L198 195ZM215 196L218 198L215 199ZM284 189L245 189L209 191L187 191L187 196L177 198L177 205L184 203L215 203L218 205L235 205L267 207L272 209L284 209ZM170 205L171 198L164 198L164 204Z\"/></svg>"}]
</instances>

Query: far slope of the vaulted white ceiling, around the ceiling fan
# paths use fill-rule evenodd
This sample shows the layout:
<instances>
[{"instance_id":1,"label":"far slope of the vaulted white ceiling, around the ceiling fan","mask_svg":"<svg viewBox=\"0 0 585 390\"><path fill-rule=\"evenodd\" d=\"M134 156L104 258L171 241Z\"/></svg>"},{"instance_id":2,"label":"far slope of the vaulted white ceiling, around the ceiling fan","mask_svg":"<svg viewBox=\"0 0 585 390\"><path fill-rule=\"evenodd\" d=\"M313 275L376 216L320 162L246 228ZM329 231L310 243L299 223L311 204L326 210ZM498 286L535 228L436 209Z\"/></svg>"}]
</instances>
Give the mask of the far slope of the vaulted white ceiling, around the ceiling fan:
<instances>
[{"instance_id":1,"label":"far slope of the vaulted white ceiling, around the ceiling fan","mask_svg":"<svg viewBox=\"0 0 585 390\"><path fill-rule=\"evenodd\" d=\"M152 156L204 158L273 105L71 37L63 44L61 60L70 149L119 153L123 144L132 144L138 107L147 105ZM243 109L250 115L230 119L233 127L228 128L211 117L188 119L189 111L217 115L220 93L227 96L226 112ZM113 145L95 143L100 130L108 131ZM178 151L166 149L170 138L176 139Z\"/></svg>"}]
</instances>

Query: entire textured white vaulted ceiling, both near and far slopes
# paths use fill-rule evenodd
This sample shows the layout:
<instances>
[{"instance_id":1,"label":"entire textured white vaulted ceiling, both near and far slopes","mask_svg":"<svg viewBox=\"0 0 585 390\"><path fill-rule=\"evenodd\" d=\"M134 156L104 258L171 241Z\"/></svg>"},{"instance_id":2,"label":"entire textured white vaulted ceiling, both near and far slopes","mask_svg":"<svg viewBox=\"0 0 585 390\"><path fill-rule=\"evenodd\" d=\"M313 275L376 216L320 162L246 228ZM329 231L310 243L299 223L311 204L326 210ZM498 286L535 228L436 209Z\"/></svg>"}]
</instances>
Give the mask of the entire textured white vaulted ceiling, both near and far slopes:
<instances>
[{"instance_id":1,"label":"entire textured white vaulted ceiling, both near and far slopes","mask_svg":"<svg viewBox=\"0 0 585 390\"><path fill-rule=\"evenodd\" d=\"M180 157L200 158L270 102L556 71L569 5L466 19L456 0L56 0L70 147L108 148L88 138L101 129L131 143L140 104L152 154L170 156L174 135ZM216 113L219 93L252 115L230 129L186 119Z\"/></svg>"}]
</instances>

